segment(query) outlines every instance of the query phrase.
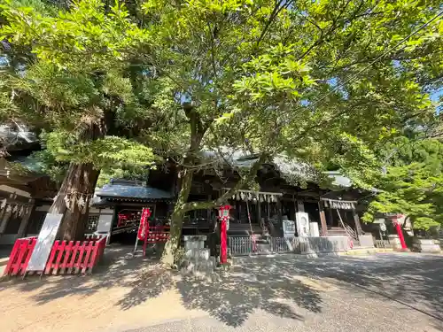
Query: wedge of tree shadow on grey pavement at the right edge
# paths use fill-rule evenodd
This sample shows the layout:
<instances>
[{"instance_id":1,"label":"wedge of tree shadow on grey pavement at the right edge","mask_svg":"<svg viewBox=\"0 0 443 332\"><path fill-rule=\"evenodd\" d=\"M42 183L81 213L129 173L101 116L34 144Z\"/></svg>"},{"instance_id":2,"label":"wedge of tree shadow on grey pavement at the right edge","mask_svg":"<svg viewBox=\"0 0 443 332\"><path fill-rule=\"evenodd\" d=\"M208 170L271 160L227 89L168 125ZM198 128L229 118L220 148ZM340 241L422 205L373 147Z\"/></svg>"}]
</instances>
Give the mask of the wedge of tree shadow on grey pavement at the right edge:
<instances>
[{"instance_id":1,"label":"wedge of tree shadow on grey pavement at the right edge","mask_svg":"<svg viewBox=\"0 0 443 332\"><path fill-rule=\"evenodd\" d=\"M293 260L280 264L291 264ZM443 321L443 259L424 254L380 254L368 258L299 259L295 274L328 278Z\"/></svg>"}]
</instances>

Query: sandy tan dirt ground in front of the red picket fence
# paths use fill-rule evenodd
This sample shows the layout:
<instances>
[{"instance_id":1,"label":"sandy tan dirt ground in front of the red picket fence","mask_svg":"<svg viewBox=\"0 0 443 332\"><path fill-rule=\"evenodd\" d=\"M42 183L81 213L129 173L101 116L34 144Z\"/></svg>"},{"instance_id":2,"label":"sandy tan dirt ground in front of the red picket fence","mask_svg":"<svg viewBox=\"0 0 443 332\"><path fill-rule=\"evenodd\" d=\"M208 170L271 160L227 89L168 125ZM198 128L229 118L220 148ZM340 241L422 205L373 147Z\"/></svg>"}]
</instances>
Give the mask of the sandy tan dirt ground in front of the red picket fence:
<instances>
[{"instance_id":1,"label":"sandy tan dirt ground in front of the red picket fence","mask_svg":"<svg viewBox=\"0 0 443 332\"><path fill-rule=\"evenodd\" d=\"M206 315L183 306L180 275L129 252L111 248L92 275L3 279L0 331L117 331Z\"/></svg>"}]
</instances>

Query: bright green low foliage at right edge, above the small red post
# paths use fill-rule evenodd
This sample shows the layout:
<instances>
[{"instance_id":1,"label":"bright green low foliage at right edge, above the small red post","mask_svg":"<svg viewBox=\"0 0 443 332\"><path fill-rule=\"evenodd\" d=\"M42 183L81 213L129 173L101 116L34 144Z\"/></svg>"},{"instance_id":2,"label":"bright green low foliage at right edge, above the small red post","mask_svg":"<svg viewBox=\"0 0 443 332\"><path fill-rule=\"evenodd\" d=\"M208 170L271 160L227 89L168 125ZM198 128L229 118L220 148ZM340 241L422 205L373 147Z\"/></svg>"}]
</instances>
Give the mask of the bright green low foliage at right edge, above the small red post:
<instances>
[{"instance_id":1,"label":"bright green low foliage at right edge, above the small red post","mask_svg":"<svg viewBox=\"0 0 443 332\"><path fill-rule=\"evenodd\" d=\"M363 220L377 212L404 213L414 228L429 229L443 223L443 143L435 139L401 138L385 148L391 156L386 174L377 181L381 191L369 204Z\"/></svg>"}]
</instances>

